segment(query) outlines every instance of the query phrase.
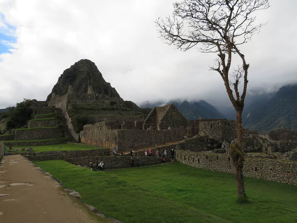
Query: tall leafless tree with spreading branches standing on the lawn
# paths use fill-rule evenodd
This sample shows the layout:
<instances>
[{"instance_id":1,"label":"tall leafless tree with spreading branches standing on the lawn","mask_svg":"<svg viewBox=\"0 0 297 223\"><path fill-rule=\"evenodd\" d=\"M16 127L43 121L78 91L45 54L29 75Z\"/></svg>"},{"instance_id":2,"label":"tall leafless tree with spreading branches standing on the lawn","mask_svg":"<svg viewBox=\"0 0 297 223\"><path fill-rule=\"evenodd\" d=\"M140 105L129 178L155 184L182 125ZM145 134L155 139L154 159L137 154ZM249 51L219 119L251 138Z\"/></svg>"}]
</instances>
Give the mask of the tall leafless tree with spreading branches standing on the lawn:
<instances>
[{"instance_id":1,"label":"tall leafless tree with spreading branches standing on the lawn","mask_svg":"<svg viewBox=\"0 0 297 223\"><path fill-rule=\"evenodd\" d=\"M211 70L222 77L229 99L236 110L236 144L231 146L231 157L235 167L237 195L246 196L242 168L243 127L242 111L247 92L249 64L240 45L260 32L266 23L255 24L255 11L270 7L268 0L184 0L174 3L173 14L158 18L155 23L159 37L169 45L182 51L197 47L203 53L217 53ZM239 56L240 65L233 72L232 56ZM231 78L232 80L229 80ZM233 80L234 79L234 80ZM243 83L241 83L243 79ZM238 87L243 85L240 95ZM233 92L233 89L235 92Z\"/></svg>"}]
</instances>

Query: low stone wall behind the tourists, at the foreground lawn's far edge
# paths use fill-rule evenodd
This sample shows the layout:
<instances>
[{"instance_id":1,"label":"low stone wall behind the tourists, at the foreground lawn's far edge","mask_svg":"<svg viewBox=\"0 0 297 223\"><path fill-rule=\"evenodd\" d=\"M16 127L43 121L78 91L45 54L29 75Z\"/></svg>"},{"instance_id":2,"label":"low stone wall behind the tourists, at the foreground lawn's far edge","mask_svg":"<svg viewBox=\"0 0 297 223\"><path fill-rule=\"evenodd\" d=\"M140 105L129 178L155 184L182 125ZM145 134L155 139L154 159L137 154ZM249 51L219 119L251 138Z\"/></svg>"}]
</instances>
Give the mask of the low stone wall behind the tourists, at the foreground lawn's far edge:
<instances>
[{"instance_id":1,"label":"low stone wall behind the tourists, at the foreground lawn's far edge","mask_svg":"<svg viewBox=\"0 0 297 223\"><path fill-rule=\"evenodd\" d=\"M98 161L103 161L104 168L124 168L130 166L130 156L99 156L99 157L80 157L67 159L66 161L74 165L86 165L92 162L94 167L98 167ZM161 157L140 157L140 166L162 163ZM134 166L137 167L136 157L134 157Z\"/></svg>"}]
</instances>

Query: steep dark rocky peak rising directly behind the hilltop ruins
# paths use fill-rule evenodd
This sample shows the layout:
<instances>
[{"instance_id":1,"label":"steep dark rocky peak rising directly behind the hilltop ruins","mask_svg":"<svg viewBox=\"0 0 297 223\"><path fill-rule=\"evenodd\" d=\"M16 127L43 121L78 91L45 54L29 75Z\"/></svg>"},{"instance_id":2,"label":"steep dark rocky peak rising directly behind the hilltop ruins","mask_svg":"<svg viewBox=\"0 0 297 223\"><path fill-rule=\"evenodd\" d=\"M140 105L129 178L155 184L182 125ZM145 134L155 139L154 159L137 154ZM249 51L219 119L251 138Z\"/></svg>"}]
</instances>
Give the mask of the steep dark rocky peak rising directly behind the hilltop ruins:
<instances>
[{"instance_id":1,"label":"steep dark rocky peak rising directly behind the hilltop ruins","mask_svg":"<svg viewBox=\"0 0 297 223\"><path fill-rule=\"evenodd\" d=\"M52 93L60 96L65 95L69 85L72 85L73 91L77 93L87 92L89 85L91 85L95 93L105 94L111 98L118 98L119 103L135 112L149 113L148 109L141 109L132 101L124 101L116 89L104 80L97 66L91 60L81 59L64 70L53 87L52 92L48 95L47 101L50 100Z\"/></svg>"}]
</instances>

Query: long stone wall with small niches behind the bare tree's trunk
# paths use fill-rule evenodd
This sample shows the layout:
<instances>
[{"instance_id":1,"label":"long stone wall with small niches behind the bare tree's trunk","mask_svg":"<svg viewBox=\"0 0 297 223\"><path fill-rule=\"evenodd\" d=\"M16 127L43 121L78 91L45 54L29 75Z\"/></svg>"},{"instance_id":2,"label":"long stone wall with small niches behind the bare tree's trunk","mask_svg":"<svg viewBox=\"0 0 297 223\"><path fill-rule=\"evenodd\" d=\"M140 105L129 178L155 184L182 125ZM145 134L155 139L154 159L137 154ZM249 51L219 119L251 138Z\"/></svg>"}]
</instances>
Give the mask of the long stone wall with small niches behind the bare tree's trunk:
<instances>
[{"instance_id":1,"label":"long stone wall with small niches behind the bare tree's trunk","mask_svg":"<svg viewBox=\"0 0 297 223\"><path fill-rule=\"evenodd\" d=\"M176 150L176 160L199 169L234 174L230 155L210 152ZM246 177L297 185L297 161L245 157L243 174Z\"/></svg>"}]
</instances>

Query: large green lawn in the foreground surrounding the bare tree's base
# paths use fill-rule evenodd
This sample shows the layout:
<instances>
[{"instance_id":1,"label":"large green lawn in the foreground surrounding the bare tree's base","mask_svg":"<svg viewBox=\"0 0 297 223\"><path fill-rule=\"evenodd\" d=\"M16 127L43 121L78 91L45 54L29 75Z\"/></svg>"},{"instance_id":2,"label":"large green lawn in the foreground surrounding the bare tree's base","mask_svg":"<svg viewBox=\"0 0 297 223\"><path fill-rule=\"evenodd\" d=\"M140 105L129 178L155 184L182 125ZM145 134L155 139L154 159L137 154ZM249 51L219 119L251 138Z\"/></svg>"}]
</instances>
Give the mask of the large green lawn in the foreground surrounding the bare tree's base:
<instances>
[{"instance_id":1,"label":"large green lawn in the foreground surrounding the bare tree's base","mask_svg":"<svg viewBox=\"0 0 297 223\"><path fill-rule=\"evenodd\" d=\"M181 163L93 172L35 161L83 202L123 222L297 222L297 186L245 178L251 202L237 203L234 175Z\"/></svg>"}]
</instances>

